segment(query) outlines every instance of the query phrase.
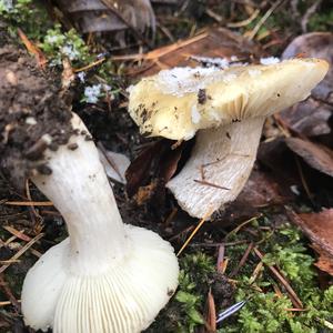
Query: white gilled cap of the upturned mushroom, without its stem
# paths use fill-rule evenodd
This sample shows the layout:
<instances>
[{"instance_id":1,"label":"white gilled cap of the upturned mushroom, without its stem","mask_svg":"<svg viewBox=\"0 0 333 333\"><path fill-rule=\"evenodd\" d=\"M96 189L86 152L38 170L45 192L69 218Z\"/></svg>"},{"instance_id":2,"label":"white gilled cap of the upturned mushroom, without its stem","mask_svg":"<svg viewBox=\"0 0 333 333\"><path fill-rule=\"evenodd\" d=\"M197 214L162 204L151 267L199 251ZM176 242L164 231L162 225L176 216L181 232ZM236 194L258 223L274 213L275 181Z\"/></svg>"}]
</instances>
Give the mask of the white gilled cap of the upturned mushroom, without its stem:
<instances>
[{"instance_id":1,"label":"white gilled cap of the upturned mushroom, without its stem","mask_svg":"<svg viewBox=\"0 0 333 333\"><path fill-rule=\"evenodd\" d=\"M172 246L152 231L125 225L131 249L98 275L70 271L69 239L29 271L22 290L27 325L54 333L137 333L147 329L178 285ZM37 285L38 281L38 285Z\"/></svg>"}]
</instances>

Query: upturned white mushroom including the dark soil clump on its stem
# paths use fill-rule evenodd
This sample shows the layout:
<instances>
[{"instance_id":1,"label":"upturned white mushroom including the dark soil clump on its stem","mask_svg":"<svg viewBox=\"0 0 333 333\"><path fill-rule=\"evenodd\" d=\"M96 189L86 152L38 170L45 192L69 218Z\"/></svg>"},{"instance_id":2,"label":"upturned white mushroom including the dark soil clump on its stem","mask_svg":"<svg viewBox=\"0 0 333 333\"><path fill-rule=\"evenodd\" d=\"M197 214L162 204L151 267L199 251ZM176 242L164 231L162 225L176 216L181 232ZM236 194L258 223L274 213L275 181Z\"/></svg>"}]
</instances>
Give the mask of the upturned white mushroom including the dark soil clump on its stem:
<instances>
[{"instance_id":1,"label":"upturned white mushroom including the dark soil clump on its stem","mask_svg":"<svg viewBox=\"0 0 333 333\"><path fill-rule=\"evenodd\" d=\"M157 233L122 223L91 135L61 97L31 58L0 48L0 171L18 186L29 175L69 231L27 274L24 322L54 333L140 332L174 292L178 260Z\"/></svg>"}]
</instances>

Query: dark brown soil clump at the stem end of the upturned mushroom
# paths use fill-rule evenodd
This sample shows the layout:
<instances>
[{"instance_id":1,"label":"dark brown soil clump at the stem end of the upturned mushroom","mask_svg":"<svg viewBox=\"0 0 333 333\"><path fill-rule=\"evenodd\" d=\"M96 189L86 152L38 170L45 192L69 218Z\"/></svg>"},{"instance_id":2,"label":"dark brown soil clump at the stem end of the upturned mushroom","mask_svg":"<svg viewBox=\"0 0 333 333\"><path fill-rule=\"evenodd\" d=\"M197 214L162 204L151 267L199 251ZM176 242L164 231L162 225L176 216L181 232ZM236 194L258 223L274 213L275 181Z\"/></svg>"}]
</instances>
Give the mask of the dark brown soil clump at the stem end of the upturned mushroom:
<instances>
[{"instance_id":1,"label":"dark brown soil clump at the stem end of the upturned mushroom","mask_svg":"<svg viewBox=\"0 0 333 333\"><path fill-rule=\"evenodd\" d=\"M0 169L18 188L32 170L51 172L43 151L72 134L70 108L48 75L14 46L0 48Z\"/></svg>"}]
</instances>

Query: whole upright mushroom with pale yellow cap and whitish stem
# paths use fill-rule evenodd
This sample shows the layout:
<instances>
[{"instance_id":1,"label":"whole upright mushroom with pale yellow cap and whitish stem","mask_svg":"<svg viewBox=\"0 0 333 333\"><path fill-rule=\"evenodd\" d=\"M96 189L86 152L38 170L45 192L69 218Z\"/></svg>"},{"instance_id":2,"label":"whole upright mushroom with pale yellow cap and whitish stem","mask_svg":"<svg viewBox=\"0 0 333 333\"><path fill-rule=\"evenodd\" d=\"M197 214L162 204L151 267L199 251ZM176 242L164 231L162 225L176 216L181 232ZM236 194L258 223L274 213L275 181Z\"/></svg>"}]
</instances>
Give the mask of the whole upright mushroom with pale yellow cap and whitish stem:
<instances>
[{"instance_id":1,"label":"whole upright mushroom with pale yellow cap and whitish stem","mask_svg":"<svg viewBox=\"0 0 333 333\"><path fill-rule=\"evenodd\" d=\"M129 112L150 137L189 140L198 131L191 158L167 188L190 215L203 218L241 192L265 118L306 99L327 68L320 59L291 59L162 70L130 87Z\"/></svg>"}]
</instances>

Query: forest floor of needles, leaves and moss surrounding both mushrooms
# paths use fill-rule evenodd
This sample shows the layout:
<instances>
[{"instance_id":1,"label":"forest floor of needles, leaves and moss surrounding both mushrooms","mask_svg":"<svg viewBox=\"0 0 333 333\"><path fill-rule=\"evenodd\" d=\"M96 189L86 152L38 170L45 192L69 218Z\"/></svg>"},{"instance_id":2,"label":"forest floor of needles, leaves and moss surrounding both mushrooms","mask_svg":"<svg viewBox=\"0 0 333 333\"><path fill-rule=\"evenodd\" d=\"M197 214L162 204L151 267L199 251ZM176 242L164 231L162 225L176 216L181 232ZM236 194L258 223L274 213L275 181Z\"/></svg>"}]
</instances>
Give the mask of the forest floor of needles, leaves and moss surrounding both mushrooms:
<instances>
[{"instance_id":1,"label":"forest floor of needles, leaves and moss surrounding both mushrooms","mask_svg":"<svg viewBox=\"0 0 333 333\"><path fill-rule=\"evenodd\" d=\"M130 84L161 69L210 64L195 57L259 62L293 42L286 58L332 65L332 4L181 2L154 4L152 39L133 29L80 34L51 1L0 0L0 48L28 49L102 152L131 161L127 184L110 178L122 219L170 241L181 268L178 291L147 332L332 332L332 70L311 98L268 119L243 192L206 221L189 216L164 186L195 139L172 150L173 141L140 135L127 111ZM52 203L28 180L18 190L9 172L0 170L0 332L33 332L20 311L22 282L67 231Z\"/></svg>"}]
</instances>

